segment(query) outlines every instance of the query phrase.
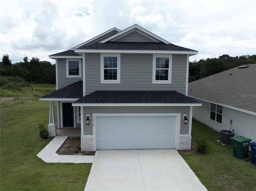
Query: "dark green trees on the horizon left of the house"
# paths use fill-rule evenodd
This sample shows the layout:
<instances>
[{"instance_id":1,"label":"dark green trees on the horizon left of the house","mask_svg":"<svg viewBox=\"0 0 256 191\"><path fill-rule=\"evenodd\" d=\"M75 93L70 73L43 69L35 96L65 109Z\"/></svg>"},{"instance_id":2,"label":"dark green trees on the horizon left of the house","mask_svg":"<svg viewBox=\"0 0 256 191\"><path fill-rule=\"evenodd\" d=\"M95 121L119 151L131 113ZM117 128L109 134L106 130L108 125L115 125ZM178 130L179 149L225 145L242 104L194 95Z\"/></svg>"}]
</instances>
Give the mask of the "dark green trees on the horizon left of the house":
<instances>
[{"instance_id":1,"label":"dark green trees on the horizon left of the house","mask_svg":"<svg viewBox=\"0 0 256 191\"><path fill-rule=\"evenodd\" d=\"M56 84L55 65L48 61L40 61L37 57L24 57L23 62L12 64L8 54L3 55L0 62L0 75L20 77L27 82Z\"/></svg>"}]
</instances>

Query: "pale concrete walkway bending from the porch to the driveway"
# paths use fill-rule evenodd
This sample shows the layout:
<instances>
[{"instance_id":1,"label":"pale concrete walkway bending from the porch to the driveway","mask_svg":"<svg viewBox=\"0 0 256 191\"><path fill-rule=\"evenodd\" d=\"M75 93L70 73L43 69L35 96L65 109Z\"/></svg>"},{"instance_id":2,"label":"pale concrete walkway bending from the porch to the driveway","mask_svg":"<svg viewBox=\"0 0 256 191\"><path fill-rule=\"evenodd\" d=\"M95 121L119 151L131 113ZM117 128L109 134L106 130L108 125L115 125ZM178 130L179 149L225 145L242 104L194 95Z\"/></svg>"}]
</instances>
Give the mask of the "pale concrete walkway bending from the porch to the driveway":
<instances>
[{"instance_id":1,"label":"pale concrete walkway bending from the porch to the driveway","mask_svg":"<svg viewBox=\"0 0 256 191\"><path fill-rule=\"evenodd\" d=\"M94 156L58 155L56 151L65 142L68 136L56 136L36 156L47 163L92 163Z\"/></svg>"}]
</instances>

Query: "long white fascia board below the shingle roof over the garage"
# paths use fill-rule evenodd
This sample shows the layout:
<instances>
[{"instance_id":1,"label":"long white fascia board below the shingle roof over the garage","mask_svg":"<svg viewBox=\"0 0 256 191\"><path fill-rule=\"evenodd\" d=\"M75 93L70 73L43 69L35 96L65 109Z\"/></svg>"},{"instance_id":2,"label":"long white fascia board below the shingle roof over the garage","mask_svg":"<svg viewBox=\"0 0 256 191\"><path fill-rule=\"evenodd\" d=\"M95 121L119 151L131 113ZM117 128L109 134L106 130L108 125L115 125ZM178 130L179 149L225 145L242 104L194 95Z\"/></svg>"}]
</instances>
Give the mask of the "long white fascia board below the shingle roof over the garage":
<instances>
[{"instance_id":1,"label":"long white fascia board below the shingle roof over the garage","mask_svg":"<svg viewBox=\"0 0 256 191\"><path fill-rule=\"evenodd\" d=\"M201 103L72 103L72 106L202 106Z\"/></svg>"}]
</instances>

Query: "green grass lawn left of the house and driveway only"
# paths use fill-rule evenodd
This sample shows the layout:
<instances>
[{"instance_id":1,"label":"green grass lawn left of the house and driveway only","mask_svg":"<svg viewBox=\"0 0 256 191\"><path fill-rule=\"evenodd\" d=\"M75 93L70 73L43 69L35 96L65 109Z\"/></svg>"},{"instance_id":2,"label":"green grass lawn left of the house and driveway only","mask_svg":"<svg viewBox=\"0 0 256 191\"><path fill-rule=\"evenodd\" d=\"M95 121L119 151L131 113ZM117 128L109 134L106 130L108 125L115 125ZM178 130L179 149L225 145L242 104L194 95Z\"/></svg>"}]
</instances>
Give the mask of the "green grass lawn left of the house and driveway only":
<instances>
[{"instance_id":1,"label":"green grass lawn left of the house and driveway only","mask_svg":"<svg viewBox=\"0 0 256 191\"><path fill-rule=\"evenodd\" d=\"M36 156L51 141L39 137L38 124L47 127L50 104L38 98L54 90L52 85L24 87L9 91L13 100L1 101L1 191L84 190L91 163L45 163Z\"/></svg>"}]
</instances>

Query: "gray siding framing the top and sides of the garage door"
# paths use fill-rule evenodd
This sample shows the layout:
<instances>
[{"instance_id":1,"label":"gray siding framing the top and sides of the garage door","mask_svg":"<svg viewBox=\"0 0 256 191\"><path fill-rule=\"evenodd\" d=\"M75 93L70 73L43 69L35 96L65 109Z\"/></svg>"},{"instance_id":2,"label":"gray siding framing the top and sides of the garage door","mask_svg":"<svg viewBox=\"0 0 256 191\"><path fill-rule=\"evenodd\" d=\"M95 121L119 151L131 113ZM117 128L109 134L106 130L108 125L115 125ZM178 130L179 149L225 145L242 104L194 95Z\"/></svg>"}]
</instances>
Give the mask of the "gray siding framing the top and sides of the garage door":
<instances>
[{"instance_id":1,"label":"gray siding framing the top and sides of the garage door","mask_svg":"<svg viewBox=\"0 0 256 191\"><path fill-rule=\"evenodd\" d=\"M92 115L95 113L180 113L180 134L188 134L189 132L189 124L184 124L183 115L187 114L189 118L190 107L182 106L182 107L152 107L152 106L144 106L144 107L121 107L121 106L98 106L98 107L83 107L84 108L84 135L92 135L92 126L93 123L90 122L90 125L85 124L86 115L90 115L90 120L92 120ZM190 123L190 121L188 121Z\"/></svg>"}]
</instances>

